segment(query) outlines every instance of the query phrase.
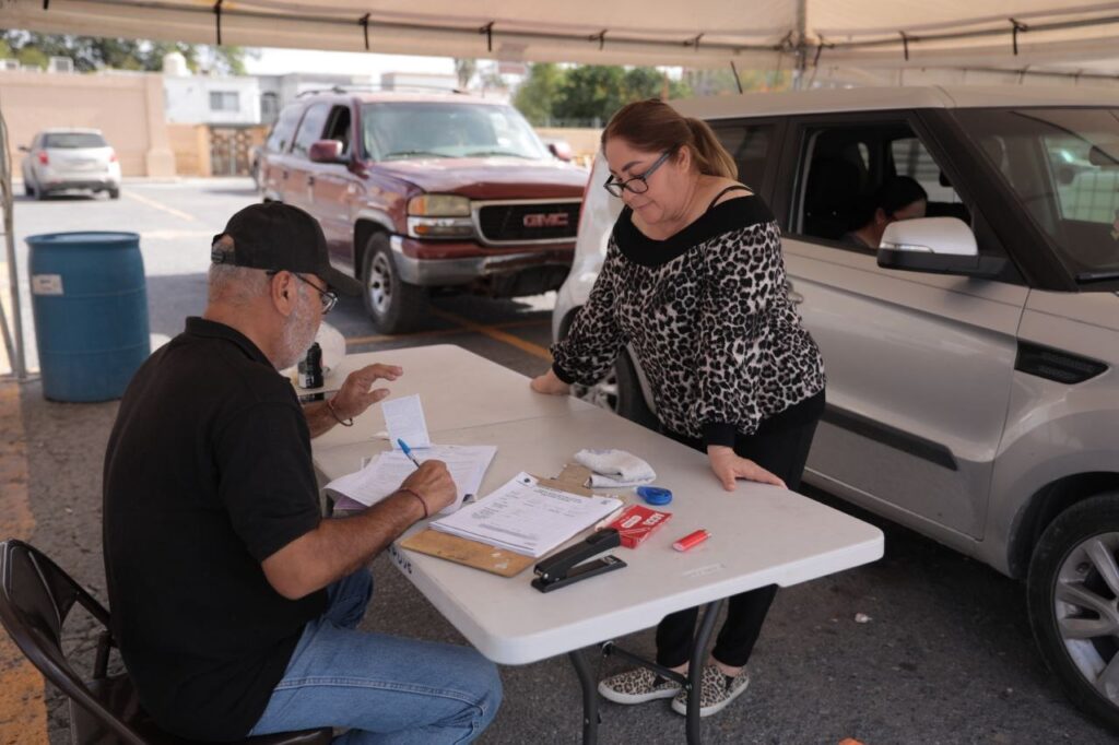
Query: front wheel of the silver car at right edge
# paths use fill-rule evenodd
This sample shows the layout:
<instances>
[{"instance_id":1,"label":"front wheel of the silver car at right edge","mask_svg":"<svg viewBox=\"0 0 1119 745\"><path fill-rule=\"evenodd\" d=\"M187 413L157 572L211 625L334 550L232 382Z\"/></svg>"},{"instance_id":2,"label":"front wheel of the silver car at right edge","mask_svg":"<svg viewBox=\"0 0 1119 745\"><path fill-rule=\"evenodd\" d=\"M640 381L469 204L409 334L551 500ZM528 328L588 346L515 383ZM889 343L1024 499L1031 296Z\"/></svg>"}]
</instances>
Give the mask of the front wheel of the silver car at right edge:
<instances>
[{"instance_id":1,"label":"front wheel of the silver car at right edge","mask_svg":"<svg viewBox=\"0 0 1119 745\"><path fill-rule=\"evenodd\" d=\"M1065 694L1119 728L1119 493L1057 516L1029 562L1034 638Z\"/></svg>"}]
</instances>

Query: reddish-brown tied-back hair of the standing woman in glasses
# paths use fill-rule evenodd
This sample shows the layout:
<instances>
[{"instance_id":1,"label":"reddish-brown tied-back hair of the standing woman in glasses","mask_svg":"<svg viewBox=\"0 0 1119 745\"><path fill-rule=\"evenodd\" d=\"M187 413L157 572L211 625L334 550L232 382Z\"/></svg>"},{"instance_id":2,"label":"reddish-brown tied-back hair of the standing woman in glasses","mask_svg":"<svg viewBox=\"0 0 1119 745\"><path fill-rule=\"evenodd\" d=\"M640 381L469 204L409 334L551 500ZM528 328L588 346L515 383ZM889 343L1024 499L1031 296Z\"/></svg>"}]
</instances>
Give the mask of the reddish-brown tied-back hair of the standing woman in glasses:
<instances>
[{"instance_id":1,"label":"reddish-brown tied-back hair of the standing woman in glasses","mask_svg":"<svg viewBox=\"0 0 1119 745\"><path fill-rule=\"evenodd\" d=\"M602 145L613 138L647 152L678 152L688 148L705 176L739 178L739 167L706 122L681 115L659 98L626 104L602 130Z\"/></svg>"}]
</instances>

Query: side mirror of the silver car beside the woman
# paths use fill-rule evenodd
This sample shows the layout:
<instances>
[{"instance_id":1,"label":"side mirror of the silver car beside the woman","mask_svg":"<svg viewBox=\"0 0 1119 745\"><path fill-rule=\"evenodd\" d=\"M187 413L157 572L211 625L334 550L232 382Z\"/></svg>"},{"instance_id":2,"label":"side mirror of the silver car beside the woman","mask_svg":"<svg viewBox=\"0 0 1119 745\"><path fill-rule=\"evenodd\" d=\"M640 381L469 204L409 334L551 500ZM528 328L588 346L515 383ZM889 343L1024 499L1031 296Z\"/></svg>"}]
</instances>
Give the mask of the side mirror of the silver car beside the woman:
<instances>
[{"instance_id":1,"label":"side mirror of the silver car beside the woman","mask_svg":"<svg viewBox=\"0 0 1119 745\"><path fill-rule=\"evenodd\" d=\"M976 236L956 217L919 217L886 226L878 266L905 272L996 277L1006 266L999 256L980 256Z\"/></svg>"}]
</instances>

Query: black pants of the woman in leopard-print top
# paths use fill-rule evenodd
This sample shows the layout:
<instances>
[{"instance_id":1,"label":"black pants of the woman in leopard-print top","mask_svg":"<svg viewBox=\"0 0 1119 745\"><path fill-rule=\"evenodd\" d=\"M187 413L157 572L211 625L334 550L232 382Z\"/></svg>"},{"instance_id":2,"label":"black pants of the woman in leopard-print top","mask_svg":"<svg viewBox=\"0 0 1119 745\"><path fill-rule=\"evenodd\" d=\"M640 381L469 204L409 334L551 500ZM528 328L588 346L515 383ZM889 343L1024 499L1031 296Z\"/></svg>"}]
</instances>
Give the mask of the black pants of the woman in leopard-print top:
<instances>
[{"instance_id":1,"label":"black pants of the woman in leopard-print top","mask_svg":"<svg viewBox=\"0 0 1119 745\"><path fill-rule=\"evenodd\" d=\"M739 436L734 443L734 452L777 474L789 489L796 491L800 488L808 449L812 444L819 414L824 411L822 394L819 395L818 406L812 408L817 409L816 416L807 423L782 426L777 431L769 431L767 423L763 423L756 434ZM696 450L706 451L698 440L678 436L668 431L664 434ZM744 666L750 660L754 642L765 622L765 614L775 596L777 585L732 596L727 601L726 621L718 632L712 657L730 667ZM675 668L688 661L698 615L699 609L693 607L665 616L657 626L658 663Z\"/></svg>"}]
</instances>

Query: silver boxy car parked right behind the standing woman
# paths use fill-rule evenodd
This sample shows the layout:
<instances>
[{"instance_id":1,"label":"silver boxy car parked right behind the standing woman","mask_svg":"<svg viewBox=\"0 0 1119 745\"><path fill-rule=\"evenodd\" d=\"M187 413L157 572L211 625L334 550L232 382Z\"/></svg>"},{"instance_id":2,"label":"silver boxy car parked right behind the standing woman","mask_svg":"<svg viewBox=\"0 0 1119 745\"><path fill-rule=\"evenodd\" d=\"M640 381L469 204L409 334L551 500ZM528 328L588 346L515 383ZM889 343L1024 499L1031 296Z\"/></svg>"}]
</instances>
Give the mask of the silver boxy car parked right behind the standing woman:
<instances>
[{"instance_id":1,"label":"silver boxy car parked right behind the standing woman","mask_svg":"<svg viewBox=\"0 0 1119 745\"><path fill-rule=\"evenodd\" d=\"M706 120L783 232L824 353L806 481L1024 579L1069 696L1119 726L1119 95L861 88L675 102ZM1074 169L1070 159L1075 158ZM553 333L585 302L620 200L594 167ZM928 217L845 245L909 176ZM582 395L657 402L623 351Z\"/></svg>"}]
</instances>

